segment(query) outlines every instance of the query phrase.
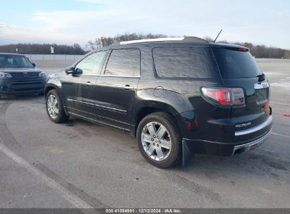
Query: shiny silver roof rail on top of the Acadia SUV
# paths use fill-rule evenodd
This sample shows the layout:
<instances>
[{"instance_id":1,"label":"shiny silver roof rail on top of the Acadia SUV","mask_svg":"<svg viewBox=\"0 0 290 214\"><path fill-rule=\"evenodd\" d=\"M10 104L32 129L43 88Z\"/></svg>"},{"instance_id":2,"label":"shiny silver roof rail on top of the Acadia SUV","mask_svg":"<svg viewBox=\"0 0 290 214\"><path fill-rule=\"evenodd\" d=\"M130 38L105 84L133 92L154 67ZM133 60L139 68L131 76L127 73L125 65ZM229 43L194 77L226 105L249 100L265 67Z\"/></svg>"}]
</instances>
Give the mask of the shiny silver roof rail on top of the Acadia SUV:
<instances>
[{"instance_id":1,"label":"shiny silver roof rail on top of the Acadia SUV","mask_svg":"<svg viewBox=\"0 0 290 214\"><path fill-rule=\"evenodd\" d=\"M145 43L145 42L196 42L196 43L208 43L205 39L198 37L172 37L172 38L158 38L158 39L139 39L126 42L120 42L120 44L133 44L133 43Z\"/></svg>"}]
</instances>

